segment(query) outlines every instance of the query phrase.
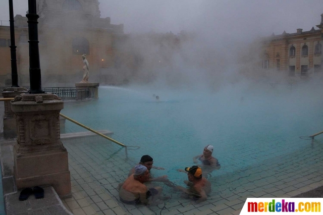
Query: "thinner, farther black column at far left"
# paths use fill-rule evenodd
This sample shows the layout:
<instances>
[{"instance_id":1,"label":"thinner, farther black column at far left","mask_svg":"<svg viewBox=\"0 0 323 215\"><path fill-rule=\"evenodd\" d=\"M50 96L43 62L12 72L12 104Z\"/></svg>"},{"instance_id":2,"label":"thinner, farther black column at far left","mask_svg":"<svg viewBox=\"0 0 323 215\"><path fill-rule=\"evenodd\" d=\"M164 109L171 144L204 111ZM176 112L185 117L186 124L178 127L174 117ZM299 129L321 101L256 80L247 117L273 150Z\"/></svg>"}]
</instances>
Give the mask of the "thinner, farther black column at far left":
<instances>
[{"instance_id":1,"label":"thinner, farther black column at far left","mask_svg":"<svg viewBox=\"0 0 323 215\"><path fill-rule=\"evenodd\" d=\"M16 57L16 43L15 43L15 25L14 25L14 6L12 0L9 0L9 16L10 16L10 52L11 52L11 84L12 87L18 86L17 73L17 57Z\"/></svg>"}]
</instances>

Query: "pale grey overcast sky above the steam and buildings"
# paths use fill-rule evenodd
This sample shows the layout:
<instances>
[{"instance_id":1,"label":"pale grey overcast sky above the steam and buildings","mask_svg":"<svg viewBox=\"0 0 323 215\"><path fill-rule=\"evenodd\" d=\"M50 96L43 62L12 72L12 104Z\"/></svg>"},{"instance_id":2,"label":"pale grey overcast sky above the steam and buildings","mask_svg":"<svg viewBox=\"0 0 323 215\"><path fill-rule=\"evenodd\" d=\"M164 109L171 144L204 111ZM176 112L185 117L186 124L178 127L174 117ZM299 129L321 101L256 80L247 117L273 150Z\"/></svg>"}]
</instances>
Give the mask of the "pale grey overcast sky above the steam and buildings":
<instances>
[{"instance_id":1,"label":"pale grey overcast sky above the steam and buildings","mask_svg":"<svg viewBox=\"0 0 323 215\"><path fill-rule=\"evenodd\" d=\"M55 1L55 0L47 0ZM246 39L315 29L322 0L99 0L101 18L124 24L125 33L195 31L216 38ZM14 0L25 16L27 0ZM0 0L0 20L9 20L8 0Z\"/></svg>"}]
</instances>

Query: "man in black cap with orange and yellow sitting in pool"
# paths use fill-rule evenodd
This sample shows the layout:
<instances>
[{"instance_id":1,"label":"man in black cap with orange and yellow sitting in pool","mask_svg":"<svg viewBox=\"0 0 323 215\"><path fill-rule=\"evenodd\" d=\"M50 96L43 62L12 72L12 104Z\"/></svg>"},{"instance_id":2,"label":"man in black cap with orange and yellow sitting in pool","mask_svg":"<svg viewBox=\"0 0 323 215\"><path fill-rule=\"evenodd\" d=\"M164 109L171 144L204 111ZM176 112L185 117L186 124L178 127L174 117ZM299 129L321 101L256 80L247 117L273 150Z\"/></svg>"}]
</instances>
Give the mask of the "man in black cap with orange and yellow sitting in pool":
<instances>
[{"instance_id":1,"label":"man in black cap with orange and yellow sitting in pool","mask_svg":"<svg viewBox=\"0 0 323 215\"><path fill-rule=\"evenodd\" d=\"M202 169L198 166L192 166L185 168L185 171L187 172L188 181L184 181L184 183L189 186L189 188L177 186L176 189L184 192L184 194L181 195L183 198L190 198L194 200L195 203L205 201L207 199L207 194L211 192L211 183L202 176Z\"/></svg>"}]
</instances>

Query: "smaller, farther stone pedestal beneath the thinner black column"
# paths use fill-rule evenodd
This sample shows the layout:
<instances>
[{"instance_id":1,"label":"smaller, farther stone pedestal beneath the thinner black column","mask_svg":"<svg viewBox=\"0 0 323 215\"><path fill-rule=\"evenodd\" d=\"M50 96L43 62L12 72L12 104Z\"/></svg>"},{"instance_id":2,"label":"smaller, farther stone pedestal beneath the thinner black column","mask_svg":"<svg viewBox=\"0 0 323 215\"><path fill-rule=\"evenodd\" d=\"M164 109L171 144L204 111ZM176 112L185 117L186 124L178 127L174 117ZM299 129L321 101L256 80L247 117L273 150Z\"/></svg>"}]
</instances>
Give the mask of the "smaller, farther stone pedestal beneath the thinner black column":
<instances>
[{"instance_id":1,"label":"smaller, farther stone pedestal beneath the thinner black column","mask_svg":"<svg viewBox=\"0 0 323 215\"><path fill-rule=\"evenodd\" d=\"M2 92L4 98L14 98L21 93L27 93L27 89L23 87L8 87ZM11 111L10 101L5 102L5 115L4 115L4 137L14 138L17 137L17 125L14 118L14 113Z\"/></svg>"}]
</instances>

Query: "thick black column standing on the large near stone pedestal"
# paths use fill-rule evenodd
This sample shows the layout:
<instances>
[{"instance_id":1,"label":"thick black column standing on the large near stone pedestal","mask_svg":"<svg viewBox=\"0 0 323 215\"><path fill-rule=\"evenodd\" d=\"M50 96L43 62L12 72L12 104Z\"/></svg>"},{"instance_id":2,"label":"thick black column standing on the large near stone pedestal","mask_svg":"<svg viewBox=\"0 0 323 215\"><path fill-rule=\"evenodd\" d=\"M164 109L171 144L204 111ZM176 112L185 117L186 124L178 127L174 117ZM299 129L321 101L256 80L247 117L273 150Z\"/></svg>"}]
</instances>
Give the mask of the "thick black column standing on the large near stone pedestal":
<instances>
[{"instance_id":1,"label":"thick black column standing on the large near stone pedestal","mask_svg":"<svg viewBox=\"0 0 323 215\"><path fill-rule=\"evenodd\" d=\"M38 18L36 0L28 0L28 32L29 32L29 93L43 93L41 90L41 74L38 48Z\"/></svg>"}]
</instances>

